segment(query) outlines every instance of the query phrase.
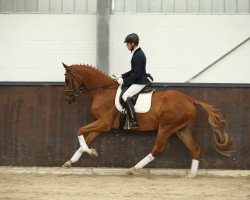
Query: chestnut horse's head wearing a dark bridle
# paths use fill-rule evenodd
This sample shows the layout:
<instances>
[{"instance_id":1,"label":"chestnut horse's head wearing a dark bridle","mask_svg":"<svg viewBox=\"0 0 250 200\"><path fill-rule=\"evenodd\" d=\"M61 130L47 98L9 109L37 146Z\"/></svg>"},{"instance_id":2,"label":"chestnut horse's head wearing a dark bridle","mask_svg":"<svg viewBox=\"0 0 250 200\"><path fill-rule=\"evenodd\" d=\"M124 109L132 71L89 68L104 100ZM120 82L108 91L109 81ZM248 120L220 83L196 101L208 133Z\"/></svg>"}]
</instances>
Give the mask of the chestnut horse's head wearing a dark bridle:
<instances>
[{"instance_id":1,"label":"chestnut horse's head wearing a dark bridle","mask_svg":"<svg viewBox=\"0 0 250 200\"><path fill-rule=\"evenodd\" d=\"M64 63L62 64L66 70L64 86L65 101L68 103L74 103L76 96L84 92L84 86L79 77L74 74L72 67L67 66Z\"/></svg>"}]
</instances>

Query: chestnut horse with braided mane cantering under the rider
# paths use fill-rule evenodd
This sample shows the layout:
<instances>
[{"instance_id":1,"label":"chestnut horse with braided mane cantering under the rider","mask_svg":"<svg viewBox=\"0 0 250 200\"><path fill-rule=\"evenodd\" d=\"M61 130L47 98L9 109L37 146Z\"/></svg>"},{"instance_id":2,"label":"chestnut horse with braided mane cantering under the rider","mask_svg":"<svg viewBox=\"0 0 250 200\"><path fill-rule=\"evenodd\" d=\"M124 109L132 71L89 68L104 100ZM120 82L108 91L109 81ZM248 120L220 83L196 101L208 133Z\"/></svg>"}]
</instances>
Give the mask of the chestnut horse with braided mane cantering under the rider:
<instances>
[{"instance_id":1,"label":"chestnut horse with braided mane cantering under the rider","mask_svg":"<svg viewBox=\"0 0 250 200\"><path fill-rule=\"evenodd\" d=\"M63 65L66 70L65 100L73 103L76 96L87 90L92 98L92 114L96 118L96 121L78 129L80 148L63 165L63 167L69 168L72 163L79 160L83 152L97 156L96 150L89 149L88 145L101 132L119 128L120 113L115 107L115 95L119 85L111 77L92 66ZM156 90L149 112L137 113L139 126L137 129L133 129L133 131L157 130L156 141L150 154L130 168L128 174L134 174L159 156L169 136L176 133L192 155L189 177L193 178L197 175L201 150L192 137L192 124L196 115L195 106L201 106L208 114L216 150L226 156L230 156L235 151L224 128L225 120L214 106L175 90ZM86 140L83 137L85 133L89 133Z\"/></svg>"}]
</instances>

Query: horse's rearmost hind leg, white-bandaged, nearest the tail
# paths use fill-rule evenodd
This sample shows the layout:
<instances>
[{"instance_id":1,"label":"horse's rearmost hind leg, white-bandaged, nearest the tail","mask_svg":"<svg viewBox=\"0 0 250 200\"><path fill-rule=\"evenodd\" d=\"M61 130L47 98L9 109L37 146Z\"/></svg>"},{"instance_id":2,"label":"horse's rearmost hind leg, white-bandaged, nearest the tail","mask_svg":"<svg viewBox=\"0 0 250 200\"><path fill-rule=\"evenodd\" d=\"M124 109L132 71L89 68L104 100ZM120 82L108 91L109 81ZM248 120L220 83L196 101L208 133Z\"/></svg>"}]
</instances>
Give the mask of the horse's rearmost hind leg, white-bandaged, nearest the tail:
<instances>
[{"instance_id":1,"label":"horse's rearmost hind leg, white-bandaged, nearest the tail","mask_svg":"<svg viewBox=\"0 0 250 200\"><path fill-rule=\"evenodd\" d=\"M192 154L191 172L188 178L195 178L198 172L201 149L192 137L192 125L187 125L185 128L177 131L176 134Z\"/></svg>"}]
</instances>

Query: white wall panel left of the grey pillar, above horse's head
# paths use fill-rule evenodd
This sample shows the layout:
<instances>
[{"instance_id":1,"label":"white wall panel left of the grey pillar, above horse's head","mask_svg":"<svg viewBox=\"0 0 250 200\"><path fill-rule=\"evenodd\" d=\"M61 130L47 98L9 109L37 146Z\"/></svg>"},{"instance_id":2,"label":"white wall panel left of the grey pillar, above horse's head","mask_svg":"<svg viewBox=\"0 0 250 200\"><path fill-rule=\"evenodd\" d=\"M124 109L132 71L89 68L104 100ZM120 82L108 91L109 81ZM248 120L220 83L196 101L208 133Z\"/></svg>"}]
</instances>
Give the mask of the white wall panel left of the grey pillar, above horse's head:
<instances>
[{"instance_id":1,"label":"white wall panel left of the grey pillar, above horse's head","mask_svg":"<svg viewBox=\"0 0 250 200\"><path fill-rule=\"evenodd\" d=\"M64 81L66 64L96 64L96 16L0 15L0 81Z\"/></svg>"}]
</instances>

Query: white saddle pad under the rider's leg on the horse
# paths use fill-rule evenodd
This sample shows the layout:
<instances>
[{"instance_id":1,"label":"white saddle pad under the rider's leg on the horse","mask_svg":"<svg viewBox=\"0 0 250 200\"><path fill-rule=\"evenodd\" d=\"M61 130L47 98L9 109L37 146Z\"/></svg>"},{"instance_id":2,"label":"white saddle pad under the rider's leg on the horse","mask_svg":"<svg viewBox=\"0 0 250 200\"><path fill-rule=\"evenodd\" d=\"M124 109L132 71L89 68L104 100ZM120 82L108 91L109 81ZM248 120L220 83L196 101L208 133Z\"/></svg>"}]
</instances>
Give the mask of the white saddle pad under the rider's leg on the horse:
<instances>
[{"instance_id":1,"label":"white saddle pad under the rider's leg on the horse","mask_svg":"<svg viewBox=\"0 0 250 200\"><path fill-rule=\"evenodd\" d=\"M120 94L121 94L121 85L118 87L115 97L115 106L116 108L121 112L123 111L122 106L120 104ZM146 113L150 110L151 107L151 100L152 100L152 94L154 91L149 93L142 93L139 94L139 97L135 104L135 112L136 113Z\"/></svg>"}]
</instances>

